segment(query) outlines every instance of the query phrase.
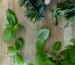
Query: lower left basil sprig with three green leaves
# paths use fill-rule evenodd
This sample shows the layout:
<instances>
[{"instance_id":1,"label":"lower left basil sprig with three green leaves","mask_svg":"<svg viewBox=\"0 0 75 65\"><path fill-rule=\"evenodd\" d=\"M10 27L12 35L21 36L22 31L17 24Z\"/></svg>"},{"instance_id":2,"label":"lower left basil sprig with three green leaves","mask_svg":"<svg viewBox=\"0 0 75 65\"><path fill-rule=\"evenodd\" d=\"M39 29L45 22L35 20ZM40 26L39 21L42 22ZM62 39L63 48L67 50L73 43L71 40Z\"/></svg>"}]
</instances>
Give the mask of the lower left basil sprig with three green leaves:
<instances>
[{"instance_id":1,"label":"lower left basil sprig with three green leaves","mask_svg":"<svg viewBox=\"0 0 75 65\"><path fill-rule=\"evenodd\" d=\"M9 46L8 50L11 52L13 57L13 62L17 62L19 65L24 65L23 57L18 53L19 50L23 48L23 40L20 38L16 40L14 46Z\"/></svg>"}]
</instances>

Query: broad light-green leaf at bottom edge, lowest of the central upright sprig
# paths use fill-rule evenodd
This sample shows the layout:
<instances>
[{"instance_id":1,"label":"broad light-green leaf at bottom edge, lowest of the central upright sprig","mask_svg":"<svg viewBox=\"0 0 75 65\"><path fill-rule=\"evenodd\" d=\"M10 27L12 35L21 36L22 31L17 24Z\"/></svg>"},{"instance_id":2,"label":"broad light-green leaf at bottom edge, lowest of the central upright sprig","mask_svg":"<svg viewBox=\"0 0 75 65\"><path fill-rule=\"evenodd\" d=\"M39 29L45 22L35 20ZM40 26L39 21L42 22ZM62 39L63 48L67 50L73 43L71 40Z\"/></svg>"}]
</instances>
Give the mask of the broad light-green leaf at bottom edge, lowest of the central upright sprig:
<instances>
[{"instance_id":1,"label":"broad light-green leaf at bottom edge, lowest of the central upright sprig","mask_svg":"<svg viewBox=\"0 0 75 65\"><path fill-rule=\"evenodd\" d=\"M55 65L55 64L47 58L46 54L40 52L36 54L34 65Z\"/></svg>"}]
</instances>

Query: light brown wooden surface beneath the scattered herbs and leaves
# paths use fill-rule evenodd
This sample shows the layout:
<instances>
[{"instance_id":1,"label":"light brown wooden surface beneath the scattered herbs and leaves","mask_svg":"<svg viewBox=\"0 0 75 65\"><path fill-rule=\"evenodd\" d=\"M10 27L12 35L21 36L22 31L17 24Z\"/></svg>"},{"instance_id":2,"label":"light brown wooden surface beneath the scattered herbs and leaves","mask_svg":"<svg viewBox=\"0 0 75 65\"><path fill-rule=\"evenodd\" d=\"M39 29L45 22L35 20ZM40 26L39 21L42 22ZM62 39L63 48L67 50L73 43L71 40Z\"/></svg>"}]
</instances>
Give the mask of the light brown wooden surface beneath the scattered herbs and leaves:
<instances>
[{"instance_id":1,"label":"light brown wooden surface beneath the scattered herbs and leaves","mask_svg":"<svg viewBox=\"0 0 75 65\"><path fill-rule=\"evenodd\" d=\"M36 34L42 27L48 28L51 32L45 51L51 51L51 46L55 41L62 41L63 47L70 44L69 40L72 37L75 37L75 24L73 23L72 26L64 29L66 20L59 18L59 25L54 26L52 13L49 10L55 8L55 1L52 0L51 4L48 6L48 12L46 13L43 22L40 21L33 24L26 17L24 17L25 8L20 8L18 0L0 0L0 65L16 65L12 62L12 57L9 56L7 47L9 45L13 45L14 40L18 37L22 37L25 40L23 50L21 51L25 62L34 63ZM17 31L15 39L11 41L10 44L6 44L2 40L2 33L7 23L5 12L8 8L15 12L18 22L24 25L24 29Z\"/></svg>"}]
</instances>

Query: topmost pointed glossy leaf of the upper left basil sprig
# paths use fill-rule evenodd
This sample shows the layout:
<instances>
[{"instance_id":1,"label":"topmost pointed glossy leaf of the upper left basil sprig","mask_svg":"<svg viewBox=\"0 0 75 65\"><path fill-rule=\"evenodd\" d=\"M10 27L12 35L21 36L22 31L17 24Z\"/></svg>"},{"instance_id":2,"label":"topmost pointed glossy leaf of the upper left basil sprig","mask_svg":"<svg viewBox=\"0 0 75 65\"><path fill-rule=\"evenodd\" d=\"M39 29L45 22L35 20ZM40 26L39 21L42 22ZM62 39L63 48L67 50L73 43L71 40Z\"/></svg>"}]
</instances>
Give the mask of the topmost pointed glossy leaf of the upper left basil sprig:
<instances>
[{"instance_id":1,"label":"topmost pointed glossy leaf of the upper left basil sprig","mask_svg":"<svg viewBox=\"0 0 75 65\"><path fill-rule=\"evenodd\" d=\"M6 11L6 17L9 24L15 25L17 23L16 15L12 10L8 9Z\"/></svg>"}]
</instances>

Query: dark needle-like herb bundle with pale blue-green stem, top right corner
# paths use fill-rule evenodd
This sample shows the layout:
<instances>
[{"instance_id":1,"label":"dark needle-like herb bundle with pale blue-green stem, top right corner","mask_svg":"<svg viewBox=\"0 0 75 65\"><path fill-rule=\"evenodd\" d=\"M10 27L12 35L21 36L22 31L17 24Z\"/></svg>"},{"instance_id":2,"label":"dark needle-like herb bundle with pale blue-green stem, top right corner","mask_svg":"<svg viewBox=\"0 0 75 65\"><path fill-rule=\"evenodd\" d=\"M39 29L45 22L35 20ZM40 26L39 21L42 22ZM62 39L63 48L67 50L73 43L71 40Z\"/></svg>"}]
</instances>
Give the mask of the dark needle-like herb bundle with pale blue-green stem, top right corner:
<instances>
[{"instance_id":1,"label":"dark needle-like herb bundle with pale blue-green stem, top right corner","mask_svg":"<svg viewBox=\"0 0 75 65\"><path fill-rule=\"evenodd\" d=\"M75 1L74 0L64 0L62 2L57 2L57 8L53 11L54 24L58 24L58 17L64 16L68 23L65 27L70 26L75 20Z\"/></svg>"}]
</instances>

